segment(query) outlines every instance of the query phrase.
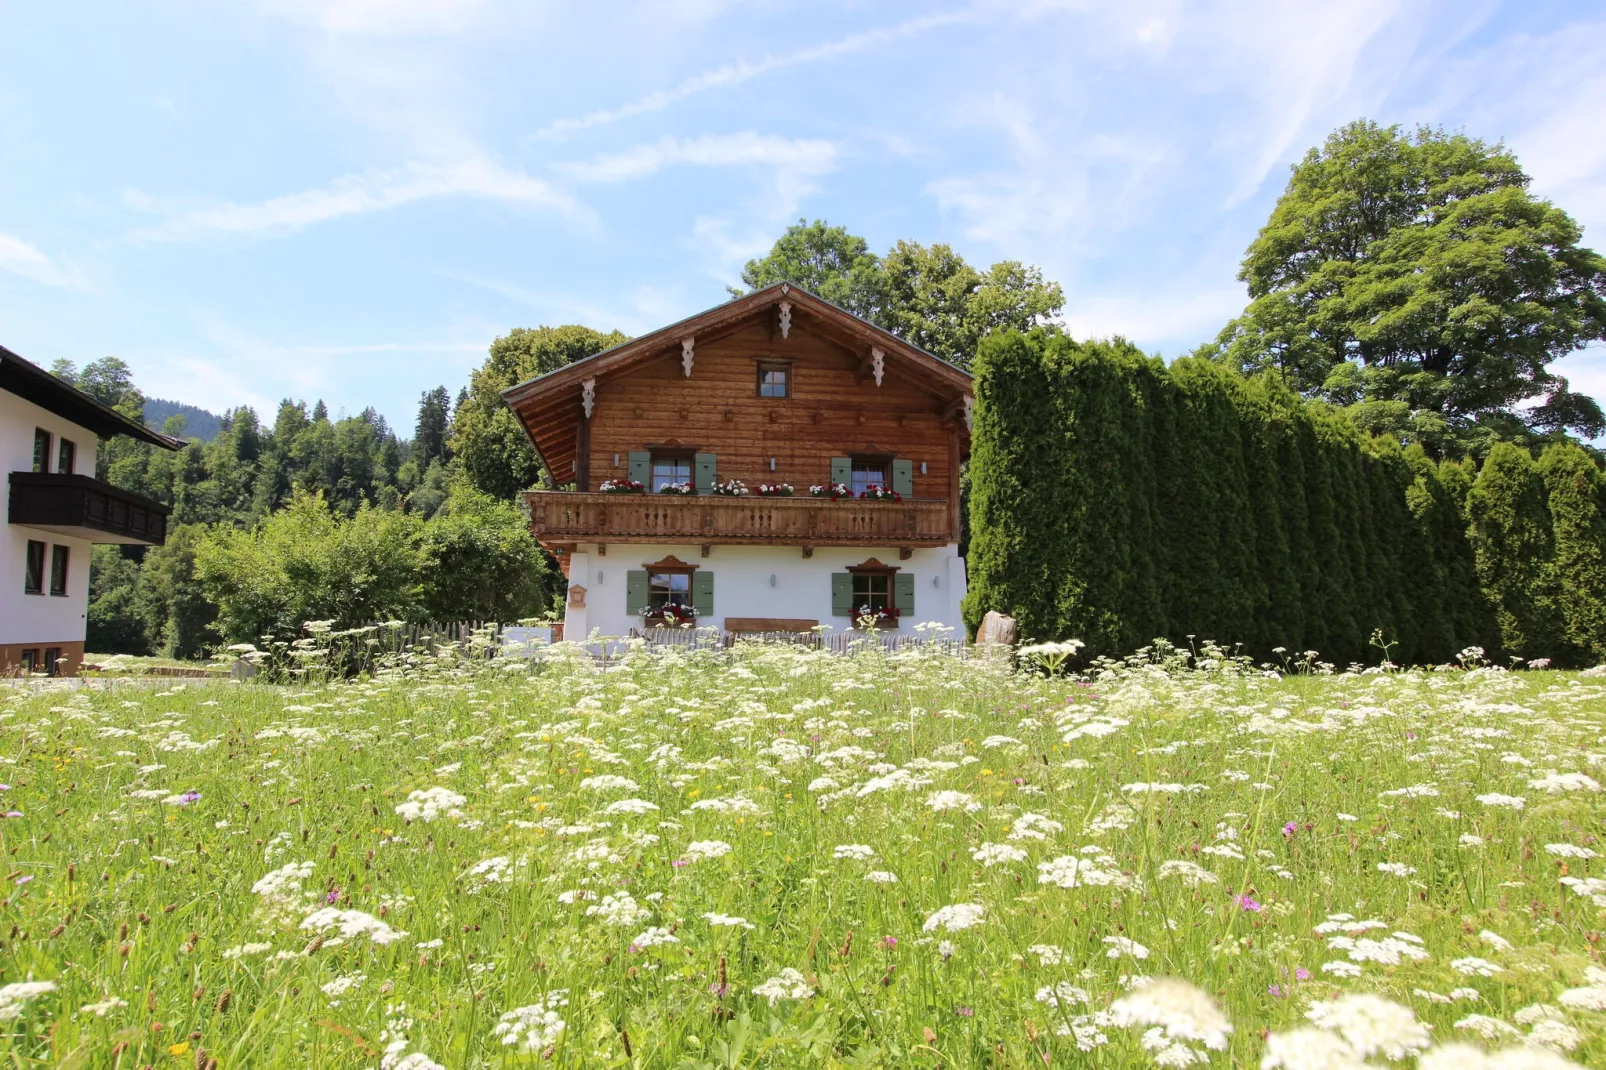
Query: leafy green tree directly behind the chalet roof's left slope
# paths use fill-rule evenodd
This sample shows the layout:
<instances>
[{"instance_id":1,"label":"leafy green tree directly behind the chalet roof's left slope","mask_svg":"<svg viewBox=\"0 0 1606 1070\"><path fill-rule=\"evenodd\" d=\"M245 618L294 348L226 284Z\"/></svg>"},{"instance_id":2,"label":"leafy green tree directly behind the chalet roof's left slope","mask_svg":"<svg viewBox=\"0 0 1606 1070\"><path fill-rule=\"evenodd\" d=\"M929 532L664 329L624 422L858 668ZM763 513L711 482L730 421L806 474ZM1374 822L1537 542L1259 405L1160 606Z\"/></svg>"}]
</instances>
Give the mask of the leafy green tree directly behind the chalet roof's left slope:
<instances>
[{"instance_id":1,"label":"leafy green tree directly behind the chalet roof's left slope","mask_svg":"<svg viewBox=\"0 0 1606 1070\"><path fill-rule=\"evenodd\" d=\"M570 325L516 328L491 342L490 357L475 370L451 421L451 451L469 485L511 500L541 477L541 461L503 402L503 390L626 341L618 331Z\"/></svg>"}]
</instances>

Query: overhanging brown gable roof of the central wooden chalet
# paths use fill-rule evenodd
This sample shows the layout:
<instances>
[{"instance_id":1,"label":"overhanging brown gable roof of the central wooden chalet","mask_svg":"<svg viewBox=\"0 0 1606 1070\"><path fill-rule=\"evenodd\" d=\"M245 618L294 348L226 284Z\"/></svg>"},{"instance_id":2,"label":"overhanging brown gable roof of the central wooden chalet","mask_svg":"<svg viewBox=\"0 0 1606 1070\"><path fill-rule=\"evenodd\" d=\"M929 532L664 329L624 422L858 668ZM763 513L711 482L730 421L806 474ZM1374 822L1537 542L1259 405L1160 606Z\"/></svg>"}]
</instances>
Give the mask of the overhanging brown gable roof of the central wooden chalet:
<instances>
[{"instance_id":1,"label":"overhanging brown gable roof of the central wooden chalet","mask_svg":"<svg viewBox=\"0 0 1606 1070\"><path fill-rule=\"evenodd\" d=\"M776 283L753 291L707 312L679 320L657 331L620 342L601 353L593 353L572 365L525 379L503 390L503 400L512 408L519 423L541 461L551 472L567 472L578 450L580 392L586 379L605 381L649 360L658 360L678 352L681 339L695 337L711 342L734 333L781 302L792 305L792 318L798 315L830 341L866 361L872 349L885 353L887 366L903 365L912 386L938 398L957 403L972 394L972 374L951 365L919 345L911 345L896 334L853 315L822 297L816 297L793 283Z\"/></svg>"}]
</instances>

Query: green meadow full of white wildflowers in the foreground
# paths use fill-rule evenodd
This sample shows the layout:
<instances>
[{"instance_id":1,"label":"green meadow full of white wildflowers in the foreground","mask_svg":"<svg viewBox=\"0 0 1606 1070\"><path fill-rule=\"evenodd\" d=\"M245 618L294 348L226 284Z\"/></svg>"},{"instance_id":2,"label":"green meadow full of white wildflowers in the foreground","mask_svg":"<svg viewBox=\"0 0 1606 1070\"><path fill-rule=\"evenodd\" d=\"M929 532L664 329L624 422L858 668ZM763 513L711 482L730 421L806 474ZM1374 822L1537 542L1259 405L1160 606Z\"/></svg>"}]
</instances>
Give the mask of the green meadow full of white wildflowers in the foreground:
<instances>
[{"instance_id":1,"label":"green meadow full of white wildflowers in the foreground","mask_svg":"<svg viewBox=\"0 0 1606 1070\"><path fill-rule=\"evenodd\" d=\"M1606 1064L1606 676L787 646L0 691L0 1056Z\"/></svg>"}]
</instances>

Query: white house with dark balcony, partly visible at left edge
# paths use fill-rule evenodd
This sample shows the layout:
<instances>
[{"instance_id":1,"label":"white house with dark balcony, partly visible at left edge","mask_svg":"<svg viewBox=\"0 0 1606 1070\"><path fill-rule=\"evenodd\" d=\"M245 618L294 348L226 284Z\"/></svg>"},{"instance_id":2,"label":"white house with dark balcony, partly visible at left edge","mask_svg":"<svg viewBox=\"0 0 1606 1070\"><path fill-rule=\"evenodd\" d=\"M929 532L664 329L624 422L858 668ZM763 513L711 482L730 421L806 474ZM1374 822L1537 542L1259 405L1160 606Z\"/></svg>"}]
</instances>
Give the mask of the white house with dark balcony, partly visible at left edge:
<instances>
[{"instance_id":1,"label":"white house with dark balcony, partly visible at left edge","mask_svg":"<svg viewBox=\"0 0 1606 1070\"><path fill-rule=\"evenodd\" d=\"M159 546L169 508L95 479L100 439L185 443L128 419L0 347L0 673L69 676L84 664L90 546Z\"/></svg>"}]
</instances>

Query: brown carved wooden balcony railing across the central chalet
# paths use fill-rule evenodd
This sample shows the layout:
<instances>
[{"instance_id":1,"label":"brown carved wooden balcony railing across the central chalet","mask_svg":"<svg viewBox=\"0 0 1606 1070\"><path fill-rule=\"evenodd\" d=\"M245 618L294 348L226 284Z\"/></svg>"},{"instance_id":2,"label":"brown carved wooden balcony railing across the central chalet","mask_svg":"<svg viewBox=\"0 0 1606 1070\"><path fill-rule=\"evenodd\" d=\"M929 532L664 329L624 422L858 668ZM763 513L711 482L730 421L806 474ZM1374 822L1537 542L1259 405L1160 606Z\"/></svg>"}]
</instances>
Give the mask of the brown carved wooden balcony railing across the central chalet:
<instances>
[{"instance_id":1,"label":"brown carved wooden balcony railing across the central chalet","mask_svg":"<svg viewBox=\"0 0 1606 1070\"><path fill-rule=\"evenodd\" d=\"M604 495L532 490L541 541L943 546L956 541L946 500L861 501L723 495Z\"/></svg>"}]
</instances>

